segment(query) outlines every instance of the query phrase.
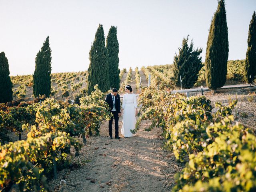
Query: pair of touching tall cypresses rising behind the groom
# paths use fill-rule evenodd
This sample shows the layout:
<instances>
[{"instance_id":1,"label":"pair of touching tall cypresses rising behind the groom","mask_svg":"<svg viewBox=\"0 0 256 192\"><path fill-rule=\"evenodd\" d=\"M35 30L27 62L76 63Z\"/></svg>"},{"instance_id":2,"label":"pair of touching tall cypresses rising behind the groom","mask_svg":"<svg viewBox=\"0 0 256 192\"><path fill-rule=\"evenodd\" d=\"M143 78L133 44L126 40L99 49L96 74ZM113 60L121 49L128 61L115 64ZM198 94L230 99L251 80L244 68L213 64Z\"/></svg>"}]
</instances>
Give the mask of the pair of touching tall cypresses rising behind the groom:
<instances>
[{"instance_id":1,"label":"pair of touching tall cypresses rising behind the groom","mask_svg":"<svg viewBox=\"0 0 256 192\"><path fill-rule=\"evenodd\" d=\"M119 43L116 27L111 26L105 46L103 26L99 24L89 52L88 94L94 90L96 84L102 92L106 92L110 88L117 90L120 88L118 53Z\"/></svg>"}]
</instances>

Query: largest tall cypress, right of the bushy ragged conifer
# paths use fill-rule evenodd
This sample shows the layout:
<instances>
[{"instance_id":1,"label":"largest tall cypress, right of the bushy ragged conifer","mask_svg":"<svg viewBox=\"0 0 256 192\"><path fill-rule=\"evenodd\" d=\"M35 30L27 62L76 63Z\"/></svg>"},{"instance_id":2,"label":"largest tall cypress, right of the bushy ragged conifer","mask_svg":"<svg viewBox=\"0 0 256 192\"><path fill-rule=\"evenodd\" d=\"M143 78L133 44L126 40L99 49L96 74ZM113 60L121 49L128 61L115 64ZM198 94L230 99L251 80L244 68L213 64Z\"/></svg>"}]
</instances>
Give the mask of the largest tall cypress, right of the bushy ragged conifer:
<instances>
[{"instance_id":1,"label":"largest tall cypress, right of the bushy ragged conifer","mask_svg":"<svg viewBox=\"0 0 256 192\"><path fill-rule=\"evenodd\" d=\"M224 86L227 75L228 62L228 26L224 0L218 1L218 8L212 18L210 26L205 72L206 85L216 92L217 88Z\"/></svg>"}]
</instances>

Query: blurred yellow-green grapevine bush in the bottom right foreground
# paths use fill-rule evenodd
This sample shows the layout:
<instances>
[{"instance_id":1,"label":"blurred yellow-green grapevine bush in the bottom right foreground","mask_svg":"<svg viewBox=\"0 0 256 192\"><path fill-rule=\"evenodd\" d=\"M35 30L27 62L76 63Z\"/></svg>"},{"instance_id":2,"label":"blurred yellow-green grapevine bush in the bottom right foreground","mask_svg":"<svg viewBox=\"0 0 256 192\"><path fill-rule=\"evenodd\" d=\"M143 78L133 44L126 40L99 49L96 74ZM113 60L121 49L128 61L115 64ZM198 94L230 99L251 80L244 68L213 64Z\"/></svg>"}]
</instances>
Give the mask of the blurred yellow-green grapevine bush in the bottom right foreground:
<instances>
[{"instance_id":1,"label":"blurred yellow-green grapevine bush in the bottom right foreground","mask_svg":"<svg viewBox=\"0 0 256 192\"><path fill-rule=\"evenodd\" d=\"M214 141L189 155L186 167L175 175L173 191L255 191L256 137L243 129L228 118L208 126L206 133Z\"/></svg>"}]
</instances>

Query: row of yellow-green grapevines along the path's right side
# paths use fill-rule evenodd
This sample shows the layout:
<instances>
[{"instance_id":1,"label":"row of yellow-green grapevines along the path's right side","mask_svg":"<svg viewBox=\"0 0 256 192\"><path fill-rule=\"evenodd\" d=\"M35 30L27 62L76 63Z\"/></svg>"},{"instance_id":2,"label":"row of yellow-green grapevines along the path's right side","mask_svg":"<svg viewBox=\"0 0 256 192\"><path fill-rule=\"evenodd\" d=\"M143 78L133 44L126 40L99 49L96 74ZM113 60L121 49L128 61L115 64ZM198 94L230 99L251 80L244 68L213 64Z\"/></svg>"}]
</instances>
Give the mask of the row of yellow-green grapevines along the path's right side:
<instances>
[{"instance_id":1,"label":"row of yellow-green grapevines along the path's right side","mask_svg":"<svg viewBox=\"0 0 256 192\"><path fill-rule=\"evenodd\" d=\"M161 126L166 144L185 168L175 175L173 191L255 191L256 137L251 130L233 124L232 109L216 103L211 112L204 96L186 98L144 88L140 118ZM150 129L148 129L150 130Z\"/></svg>"}]
</instances>

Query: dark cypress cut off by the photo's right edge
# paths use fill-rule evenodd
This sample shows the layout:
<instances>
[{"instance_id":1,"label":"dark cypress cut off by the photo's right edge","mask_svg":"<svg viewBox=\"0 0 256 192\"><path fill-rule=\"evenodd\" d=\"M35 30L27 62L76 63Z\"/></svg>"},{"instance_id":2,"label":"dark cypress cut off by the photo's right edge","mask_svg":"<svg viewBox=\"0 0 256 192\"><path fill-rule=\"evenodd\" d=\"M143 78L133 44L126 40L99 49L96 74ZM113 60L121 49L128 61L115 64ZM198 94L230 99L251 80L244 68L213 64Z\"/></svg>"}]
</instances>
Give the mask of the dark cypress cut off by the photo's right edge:
<instances>
[{"instance_id":1,"label":"dark cypress cut off by the photo's right edge","mask_svg":"<svg viewBox=\"0 0 256 192\"><path fill-rule=\"evenodd\" d=\"M248 48L244 65L244 79L247 83L252 83L256 77L256 16L255 11L249 25ZM251 76L251 78L250 78Z\"/></svg>"}]
</instances>

